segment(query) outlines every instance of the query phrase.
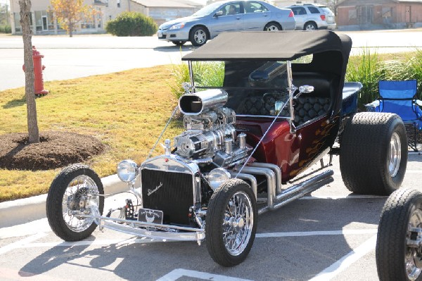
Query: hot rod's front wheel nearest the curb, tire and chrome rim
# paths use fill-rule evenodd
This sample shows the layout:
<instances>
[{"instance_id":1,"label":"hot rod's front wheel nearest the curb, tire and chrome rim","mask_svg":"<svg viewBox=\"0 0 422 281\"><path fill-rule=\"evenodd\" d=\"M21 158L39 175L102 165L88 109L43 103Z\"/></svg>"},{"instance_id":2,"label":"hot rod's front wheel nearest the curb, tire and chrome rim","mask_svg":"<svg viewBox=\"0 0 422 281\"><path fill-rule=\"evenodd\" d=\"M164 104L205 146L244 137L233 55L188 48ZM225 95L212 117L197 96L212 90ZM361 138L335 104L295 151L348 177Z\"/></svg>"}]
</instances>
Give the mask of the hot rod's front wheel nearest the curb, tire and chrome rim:
<instances>
[{"instance_id":1,"label":"hot rod's front wheel nearest the curb, tire and chrome rim","mask_svg":"<svg viewBox=\"0 0 422 281\"><path fill-rule=\"evenodd\" d=\"M74 164L62 170L51 183L46 199L46 214L51 230L65 241L79 241L91 235L97 225L94 218L104 208L103 184L89 166Z\"/></svg>"}]
</instances>

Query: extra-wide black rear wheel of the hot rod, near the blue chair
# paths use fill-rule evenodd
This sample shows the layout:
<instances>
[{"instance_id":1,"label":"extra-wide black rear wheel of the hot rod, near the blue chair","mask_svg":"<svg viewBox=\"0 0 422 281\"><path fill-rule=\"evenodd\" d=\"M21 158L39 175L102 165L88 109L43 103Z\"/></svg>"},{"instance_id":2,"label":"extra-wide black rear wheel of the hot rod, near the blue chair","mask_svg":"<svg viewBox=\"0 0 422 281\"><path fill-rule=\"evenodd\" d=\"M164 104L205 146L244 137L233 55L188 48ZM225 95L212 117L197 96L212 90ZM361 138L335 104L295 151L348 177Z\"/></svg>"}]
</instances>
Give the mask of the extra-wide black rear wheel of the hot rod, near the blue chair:
<instances>
[{"instance_id":1,"label":"extra-wide black rear wheel of the hot rod, near the blue chair","mask_svg":"<svg viewBox=\"0 0 422 281\"><path fill-rule=\"evenodd\" d=\"M402 185L407 166L407 135L392 113L357 113L340 141L340 171L351 192L390 195Z\"/></svg>"}]
</instances>

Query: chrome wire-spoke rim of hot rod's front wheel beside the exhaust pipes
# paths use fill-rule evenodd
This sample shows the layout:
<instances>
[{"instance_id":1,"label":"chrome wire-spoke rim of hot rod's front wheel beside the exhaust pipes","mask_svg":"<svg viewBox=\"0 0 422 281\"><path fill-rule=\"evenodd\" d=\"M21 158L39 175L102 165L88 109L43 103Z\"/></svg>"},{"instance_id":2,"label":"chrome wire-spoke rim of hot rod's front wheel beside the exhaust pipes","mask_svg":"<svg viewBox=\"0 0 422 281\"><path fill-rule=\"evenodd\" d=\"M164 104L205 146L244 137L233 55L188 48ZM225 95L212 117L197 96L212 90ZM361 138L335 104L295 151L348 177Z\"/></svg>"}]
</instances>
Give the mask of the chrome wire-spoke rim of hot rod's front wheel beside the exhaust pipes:
<instances>
[{"instance_id":1,"label":"chrome wire-spoke rim of hot rod's front wheel beside the exhaust pipes","mask_svg":"<svg viewBox=\"0 0 422 281\"><path fill-rule=\"evenodd\" d=\"M252 203L245 192L236 192L229 200L223 219L223 241L233 256L248 245L253 225Z\"/></svg>"}]
</instances>

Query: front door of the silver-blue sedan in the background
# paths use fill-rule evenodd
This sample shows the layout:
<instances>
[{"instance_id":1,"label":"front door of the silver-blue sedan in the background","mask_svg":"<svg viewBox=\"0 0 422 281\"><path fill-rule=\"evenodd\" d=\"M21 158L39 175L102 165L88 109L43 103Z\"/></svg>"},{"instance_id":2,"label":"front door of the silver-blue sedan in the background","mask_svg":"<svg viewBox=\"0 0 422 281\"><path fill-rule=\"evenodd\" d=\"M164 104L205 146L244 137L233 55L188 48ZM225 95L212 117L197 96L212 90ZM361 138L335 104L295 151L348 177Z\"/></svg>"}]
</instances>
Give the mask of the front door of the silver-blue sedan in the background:
<instances>
[{"instance_id":1,"label":"front door of the silver-blue sedan in the background","mask_svg":"<svg viewBox=\"0 0 422 281\"><path fill-rule=\"evenodd\" d=\"M241 1L231 2L220 8L212 16L211 34L216 36L221 32L243 30L243 5Z\"/></svg>"}]
</instances>

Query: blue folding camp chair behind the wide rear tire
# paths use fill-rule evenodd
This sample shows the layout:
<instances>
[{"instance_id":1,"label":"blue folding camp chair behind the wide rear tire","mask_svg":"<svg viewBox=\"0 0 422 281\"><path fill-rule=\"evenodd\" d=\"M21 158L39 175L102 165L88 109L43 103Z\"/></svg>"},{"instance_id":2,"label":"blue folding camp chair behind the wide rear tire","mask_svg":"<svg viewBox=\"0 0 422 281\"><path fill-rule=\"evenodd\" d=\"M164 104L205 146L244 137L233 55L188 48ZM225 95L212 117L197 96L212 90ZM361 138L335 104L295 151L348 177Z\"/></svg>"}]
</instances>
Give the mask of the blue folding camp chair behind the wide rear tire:
<instances>
[{"instance_id":1,"label":"blue folding camp chair behind the wide rear tire","mask_svg":"<svg viewBox=\"0 0 422 281\"><path fill-rule=\"evenodd\" d=\"M390 112L399 115L407 127L409 146L418 151L418 135L422 130L422 101L416 99L416 80L378 82L379 98L366 104L367 111ZM409 132L411 127L411 132ZM411 137L414 135L414 137Z\"/></svg>"}]
</instances>

